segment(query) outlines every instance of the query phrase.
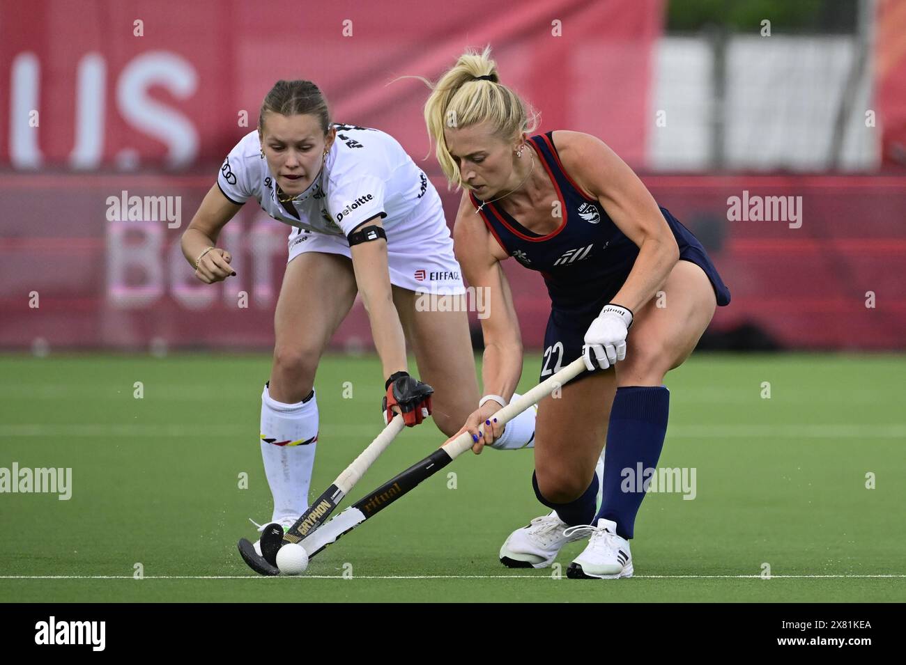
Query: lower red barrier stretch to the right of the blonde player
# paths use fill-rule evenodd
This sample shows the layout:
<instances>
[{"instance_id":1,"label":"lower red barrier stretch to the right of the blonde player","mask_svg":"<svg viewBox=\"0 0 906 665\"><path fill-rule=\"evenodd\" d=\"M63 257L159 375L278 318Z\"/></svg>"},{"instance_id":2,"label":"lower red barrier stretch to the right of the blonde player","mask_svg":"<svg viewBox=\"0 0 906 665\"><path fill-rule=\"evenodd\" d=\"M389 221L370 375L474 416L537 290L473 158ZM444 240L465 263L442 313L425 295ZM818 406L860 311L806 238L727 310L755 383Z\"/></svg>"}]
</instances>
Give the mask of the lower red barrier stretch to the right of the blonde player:
<instances>
[{"instance_id":1,"label":"lower red barrier stretch to the right of the blonde player","mask_svg":"<svg viewBox=\"0 0 906 665\"><path fill-rule=\"evenodd\" d=\"M643 180L699 236L732 293L716 327L754 323L788 347L906 348L902 177ZM749 214L731 220L737 199Z\"/></svg>"}]
</instances>

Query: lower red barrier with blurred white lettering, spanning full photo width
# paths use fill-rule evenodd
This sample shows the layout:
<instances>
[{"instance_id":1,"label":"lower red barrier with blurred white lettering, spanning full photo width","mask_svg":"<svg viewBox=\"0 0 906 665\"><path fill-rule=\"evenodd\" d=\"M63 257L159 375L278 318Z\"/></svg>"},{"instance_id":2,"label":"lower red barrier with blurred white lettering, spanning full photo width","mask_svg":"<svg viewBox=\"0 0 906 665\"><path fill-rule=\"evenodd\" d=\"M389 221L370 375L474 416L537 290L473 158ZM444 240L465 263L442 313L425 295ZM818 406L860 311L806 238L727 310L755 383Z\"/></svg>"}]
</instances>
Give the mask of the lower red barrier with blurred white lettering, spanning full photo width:
<instances>
[{"instance_id":1,"label":"lower red barrier with blurred white lettering, spanning full photo width","mask_svg":"<svg viewBox=\"0 0 906 665\"><path fill-rule=\"evenodd\" d=\"M47 176L0 177L5 228L13 232L0 239L0 347L28 347L37 337L51 347L141 348L154 338L171 347L271 346L286 257L283 225L246 206L220 242L233 253L237 276L207 286L194 279L179 252L179 229L166 222L105 221L105 197L127 188L134 195L181 196L188 214L211 179L57 176L57 196L49 197ZM733 294L712 328L754 323L790 347L906 347L901 178L643 179L660 204L698 234ZM441 192L445 208L453 210L456 196ZM728 200L758 196L801 197L797 220L728 220ZM54 223L35 225L47 220ZM515 261L505 266L525 344L540 347L549 309L544 284ZM371 347L361 305L334 342Z\"/></svg>"}]
</instances>

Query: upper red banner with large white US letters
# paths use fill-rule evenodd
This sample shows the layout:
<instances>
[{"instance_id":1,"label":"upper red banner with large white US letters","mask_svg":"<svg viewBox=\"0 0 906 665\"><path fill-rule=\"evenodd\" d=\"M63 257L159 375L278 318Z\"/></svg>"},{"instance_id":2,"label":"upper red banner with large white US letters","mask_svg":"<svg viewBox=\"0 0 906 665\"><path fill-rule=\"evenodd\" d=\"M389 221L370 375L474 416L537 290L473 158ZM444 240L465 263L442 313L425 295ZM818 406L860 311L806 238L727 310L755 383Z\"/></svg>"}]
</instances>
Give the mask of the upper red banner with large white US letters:
<instances>
[{"instance_id":1,"label":"upper red banner with large white US letters","mask_svg":"<svg viewBox=\"0 0 906 665\"><path fill-rule=\"evenodd\" d=\"M550 127L644 154L662 0L0 3L0 163L184 168L221 161L278 79L318 83L334 117L428 153L416 74L491 44ZM245 123L245 124L243 124Z\"/></svg>"}]
</instances>

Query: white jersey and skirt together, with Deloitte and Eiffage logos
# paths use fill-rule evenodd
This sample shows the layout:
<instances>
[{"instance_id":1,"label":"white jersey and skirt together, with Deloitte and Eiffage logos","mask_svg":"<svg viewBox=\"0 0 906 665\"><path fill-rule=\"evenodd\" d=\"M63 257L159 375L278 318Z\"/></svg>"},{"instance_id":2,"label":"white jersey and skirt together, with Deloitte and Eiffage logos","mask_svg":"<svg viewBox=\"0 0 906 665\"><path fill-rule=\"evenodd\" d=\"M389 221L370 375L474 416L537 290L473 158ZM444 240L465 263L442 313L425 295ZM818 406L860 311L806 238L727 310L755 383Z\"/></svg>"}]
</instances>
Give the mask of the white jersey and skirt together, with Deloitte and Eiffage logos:
<instances>
[{"instance_id":1,"label":"white jersey and skirt together, with Deloitte and Eiffage logos","mask_svg":"<svg viewBox=\"0 0 906 665\"><path fill-rule=\"evenodd\" d=\"M352 257L346 236L375 215L387 233L390 282L412 291L464 293L440 197L397 140L378 129L334 125L337 137L312 185L292 203L277 200L257 131L231 151L217 176L226 198L255 198L293 226L288 260L304 252Z\"/></svg>"}]
</instances>

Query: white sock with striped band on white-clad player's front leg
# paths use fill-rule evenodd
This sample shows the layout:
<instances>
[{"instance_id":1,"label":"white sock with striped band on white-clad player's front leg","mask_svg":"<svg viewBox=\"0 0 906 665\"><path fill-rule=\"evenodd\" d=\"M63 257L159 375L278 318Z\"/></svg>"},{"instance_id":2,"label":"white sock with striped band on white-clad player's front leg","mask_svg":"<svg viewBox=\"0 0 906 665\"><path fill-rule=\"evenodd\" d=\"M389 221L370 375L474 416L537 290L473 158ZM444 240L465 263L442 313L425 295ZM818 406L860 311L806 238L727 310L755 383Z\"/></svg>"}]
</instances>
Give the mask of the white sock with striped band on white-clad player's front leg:
<instances>
[{"instance_id":1,"label":"white sock with striped band on white-clad player's front leg","mask_svg":"<svg viewBox=\"0 0 906 665\"><path fill-rule=\"evenodd\" d=\"M271 520L298 518L308 509L314 451L318 440L318 404L314 391L305 402L283 404L261 394L261 456L274 497ZM283 445L277 445L285 442Z\"/></svg>"}]
</instances>

